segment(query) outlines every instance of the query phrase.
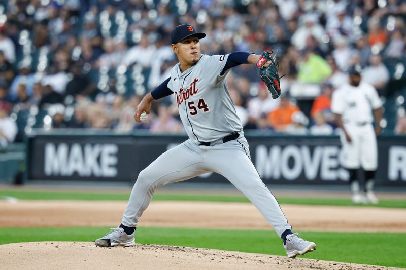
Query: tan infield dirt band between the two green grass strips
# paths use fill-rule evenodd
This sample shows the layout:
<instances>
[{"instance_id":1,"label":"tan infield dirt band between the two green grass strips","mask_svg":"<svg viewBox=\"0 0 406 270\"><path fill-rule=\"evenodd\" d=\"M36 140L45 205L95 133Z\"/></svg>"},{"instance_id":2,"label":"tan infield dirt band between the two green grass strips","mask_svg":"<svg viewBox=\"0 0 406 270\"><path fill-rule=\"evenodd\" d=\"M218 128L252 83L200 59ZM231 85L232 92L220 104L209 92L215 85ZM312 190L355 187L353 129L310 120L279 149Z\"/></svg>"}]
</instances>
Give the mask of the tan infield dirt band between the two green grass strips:
<instances>
[{"instance_id":1,"label":"tan infield dirt band between the two green grass strips","mask_svg":"<svg viewBox=\"0 0 406 270\"><path fill-rule=\"evenodd\" d=\"M120 224L124 201L0 201L0 227ZM281 205L294 230L406 232L406 209ZM74 218L72 218L74 217ZM140 226L270 229L251 203L152 201Z\"/></svg>"}]
</instances>

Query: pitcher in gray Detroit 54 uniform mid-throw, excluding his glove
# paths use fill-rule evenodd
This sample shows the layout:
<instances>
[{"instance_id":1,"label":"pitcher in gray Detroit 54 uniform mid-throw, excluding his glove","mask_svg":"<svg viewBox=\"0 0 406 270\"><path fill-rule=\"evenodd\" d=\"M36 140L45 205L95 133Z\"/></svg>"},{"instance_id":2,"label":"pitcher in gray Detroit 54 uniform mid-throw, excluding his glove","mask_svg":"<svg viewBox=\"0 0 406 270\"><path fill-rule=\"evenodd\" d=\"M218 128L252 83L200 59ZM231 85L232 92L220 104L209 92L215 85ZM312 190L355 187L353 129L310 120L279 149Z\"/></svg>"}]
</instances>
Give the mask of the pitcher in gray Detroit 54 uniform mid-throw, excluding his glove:
<instances>
[{"instance_id":1,"label":"pitcher in gray Detroit 54 uniform mid-throw, excluding his glove","mask_svg":"<svg viewBox=\"0 0 406 270\"><path fill-rule=\"evenodd\" d=\"M283 239L289 257L313 251L315 243L292 233L277 200L260 179L228 93L225 76L230 68L243 63L256 64L260 56L249 52L202 55L199 39L205 36L189 24L179 25L172 31L172 48L179 63L172 68L170 78L144 97L134 115L140 122L145 111L142 114L145 120L151 101L174 94L189 139L164 152L140 172L121 225L95 244L133 245L136 226L157 187L216 172L250 199Z\"/></svg>"}]
</instances>

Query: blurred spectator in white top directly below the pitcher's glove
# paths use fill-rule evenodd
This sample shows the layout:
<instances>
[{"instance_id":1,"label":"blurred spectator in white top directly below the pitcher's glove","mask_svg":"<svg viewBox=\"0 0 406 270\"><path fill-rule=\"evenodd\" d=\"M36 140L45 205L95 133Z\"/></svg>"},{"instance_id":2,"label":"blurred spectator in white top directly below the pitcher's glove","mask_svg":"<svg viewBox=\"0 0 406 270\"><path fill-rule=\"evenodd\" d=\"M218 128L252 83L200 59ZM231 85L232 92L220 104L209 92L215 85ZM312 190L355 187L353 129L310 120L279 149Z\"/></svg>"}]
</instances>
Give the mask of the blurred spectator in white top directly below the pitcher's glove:
<instances>
[{"instance_id":1,"label":"blurred spectator in white top directly below the pitcher's glove","mask_svg":"<svg viewBox=\"0 0 406 270\"><path fill-rule=\"evenodd\" d=\"M248 102L247 129L266 129L268 127L266 115L275 109L279 99L273 99L269 95L268 88L261 82L258 87L258 95Z\"/></svg>"}]
</instances>

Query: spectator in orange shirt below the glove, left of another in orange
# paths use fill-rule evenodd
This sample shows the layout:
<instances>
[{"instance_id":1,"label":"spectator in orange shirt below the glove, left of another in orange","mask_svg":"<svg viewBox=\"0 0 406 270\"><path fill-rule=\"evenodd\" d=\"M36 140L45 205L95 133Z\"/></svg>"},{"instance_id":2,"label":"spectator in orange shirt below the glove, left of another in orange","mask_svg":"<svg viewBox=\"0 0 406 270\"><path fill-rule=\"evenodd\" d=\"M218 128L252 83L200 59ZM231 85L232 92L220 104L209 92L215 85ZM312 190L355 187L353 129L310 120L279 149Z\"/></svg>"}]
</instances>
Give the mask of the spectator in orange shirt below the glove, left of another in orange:
<instances>
[{"instance_id":1,"label":"spectator in orange shirt below the glove, left of another in orange","mask_svg":"<svg viewBox=\"0 0 406 270\"><path fill-rule=\"evenodd\" d=\"M283 132L288 125L292 124L292 114L300 109L289 101L288 95L282 95L279 99L279 106L268 113L267 119L269 127Z\"/></svg>"}]
</instances>

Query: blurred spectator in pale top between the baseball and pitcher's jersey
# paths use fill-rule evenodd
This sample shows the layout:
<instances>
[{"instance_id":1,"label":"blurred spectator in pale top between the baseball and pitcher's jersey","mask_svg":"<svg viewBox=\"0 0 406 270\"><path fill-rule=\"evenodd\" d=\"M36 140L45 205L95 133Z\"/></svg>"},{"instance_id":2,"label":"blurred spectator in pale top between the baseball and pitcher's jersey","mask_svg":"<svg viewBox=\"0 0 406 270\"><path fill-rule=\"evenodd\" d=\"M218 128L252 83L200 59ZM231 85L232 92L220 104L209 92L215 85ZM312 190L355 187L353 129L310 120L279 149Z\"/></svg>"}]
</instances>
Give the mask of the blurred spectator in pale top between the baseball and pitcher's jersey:
<instances>
[{"instance_id":1,"label":"blurred spectator in pale top between the baseball and pitcher's jersey","mask_svg":"<svg viewBox=\"0 0 406 270\"><path fill-rule=\"evenodd\" d=\"M159 105L158 117L151 123L151 133L182 133L182 124L172 117L168 107Z\"/></svg>"}]
</instances>

